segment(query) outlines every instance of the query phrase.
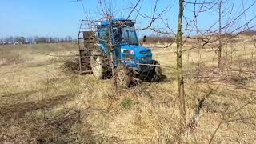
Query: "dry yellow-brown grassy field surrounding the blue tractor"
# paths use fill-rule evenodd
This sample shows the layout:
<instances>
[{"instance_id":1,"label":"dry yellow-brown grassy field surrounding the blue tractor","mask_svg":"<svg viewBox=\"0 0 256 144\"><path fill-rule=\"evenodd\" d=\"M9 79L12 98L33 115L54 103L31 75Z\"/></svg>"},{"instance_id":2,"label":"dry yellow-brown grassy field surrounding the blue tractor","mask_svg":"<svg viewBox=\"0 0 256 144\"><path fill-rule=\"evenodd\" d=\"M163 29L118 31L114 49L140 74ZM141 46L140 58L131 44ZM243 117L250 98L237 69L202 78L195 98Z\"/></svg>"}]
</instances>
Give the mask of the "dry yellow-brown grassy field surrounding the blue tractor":
<instances>
[{"instance_id":1,"label":"dry yellow-brown grassy field surrounding the blue tractor","mask_svg":"<svg viewBox=\"0 0 256 144\"><path fill-rule=\"evenodd\" d=\"M0 143L175 142L175 46L148 46L167 78L118 94L113 79L75 74L65 65L78 54L74 43L0 46ZM198 99L206 98L184 143L208 143L214 131L213 143L255 143L256 49L253 43L224 49L222 77L209 46L183 54L188 123Z\"/></svg>"}]
</instances>

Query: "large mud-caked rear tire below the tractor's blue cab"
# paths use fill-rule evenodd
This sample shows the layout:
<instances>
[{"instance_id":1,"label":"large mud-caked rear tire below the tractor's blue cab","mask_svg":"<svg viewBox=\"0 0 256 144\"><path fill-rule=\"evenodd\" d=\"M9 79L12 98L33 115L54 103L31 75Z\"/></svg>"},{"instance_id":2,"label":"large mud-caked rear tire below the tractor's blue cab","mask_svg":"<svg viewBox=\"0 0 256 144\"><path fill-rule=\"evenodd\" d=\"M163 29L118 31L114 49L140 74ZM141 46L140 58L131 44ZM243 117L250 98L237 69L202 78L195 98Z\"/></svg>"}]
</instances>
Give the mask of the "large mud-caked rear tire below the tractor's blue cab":
<instances>
[{"instance_id":1,"label":"large mud-caked rear tire below the tractor's blue cab","mask_svg":"<svg viewBox=\"0 0 256 144\"><path fill-rule=\"evenodd\" d=\"M94 48L94 50L90 54L90 66L93 70L93 74L95 78L102 79L106 77L107 73L107 62L103 51L98 47Z\"/></svg>"}]
</instances>

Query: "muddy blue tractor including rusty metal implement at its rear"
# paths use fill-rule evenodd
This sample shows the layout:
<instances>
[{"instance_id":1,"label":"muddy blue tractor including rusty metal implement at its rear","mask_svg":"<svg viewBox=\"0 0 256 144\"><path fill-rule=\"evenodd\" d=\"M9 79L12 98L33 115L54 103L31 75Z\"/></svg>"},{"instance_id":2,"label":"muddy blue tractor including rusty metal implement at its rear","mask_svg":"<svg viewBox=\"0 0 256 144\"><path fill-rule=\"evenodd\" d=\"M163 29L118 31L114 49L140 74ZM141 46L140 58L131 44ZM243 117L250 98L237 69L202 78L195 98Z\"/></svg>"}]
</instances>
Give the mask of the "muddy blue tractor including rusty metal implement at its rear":
<instances>
[{"instance_id":1,"label":"muddy blue tractor including rusty metal implement at its rear","mask_svg":"<svg viewBox=\"0 0 256 144\"><path fill-rule=\"evenodd\" d=\"M162 76L160 65L152 59L151 50L138 42L134 24L132 20L108 19L98 22L94 31L81 28L78 33L80 71L106 78L113 74L109 60L114 57L112 63L122 85L130 86L134 79L158 82Z\"/></svg>"}]
</instances>

